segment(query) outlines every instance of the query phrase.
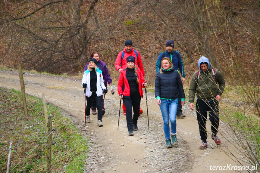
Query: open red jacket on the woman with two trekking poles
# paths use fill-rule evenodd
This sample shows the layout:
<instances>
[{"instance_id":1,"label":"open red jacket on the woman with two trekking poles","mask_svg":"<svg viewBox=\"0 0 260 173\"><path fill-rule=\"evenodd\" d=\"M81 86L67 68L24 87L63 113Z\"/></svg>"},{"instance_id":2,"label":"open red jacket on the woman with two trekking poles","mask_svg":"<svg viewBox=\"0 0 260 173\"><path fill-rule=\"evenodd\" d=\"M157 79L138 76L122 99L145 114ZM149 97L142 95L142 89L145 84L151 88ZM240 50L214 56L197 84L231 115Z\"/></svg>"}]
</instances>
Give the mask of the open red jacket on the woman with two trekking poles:
<instances>
[{"instance_id":1,"label":"open red jacket on the woman with two trekking poles","mask_svg":"<svg viewBox=\"0 0 260 173\"><path fill-rule=\"evenodd\" d=\"M125 98L130 98L130 87L129 87L129 83L127 81L127 76L126 76L126 71L127 69L125 68L123 73L120 73L120 76L119 76L119 80L118 80L118 84L117 84L117 91L118 91L118 94L123 94L123 96ZM139 69L136 70L136 73L137 73L137 77L139 79L139 93L140 93L140 96L143 98L143 88L145 88L143 86L145 80L144 80L144 77L143 77L143 74L140 72Z\"/></svg>"}]
</instances>

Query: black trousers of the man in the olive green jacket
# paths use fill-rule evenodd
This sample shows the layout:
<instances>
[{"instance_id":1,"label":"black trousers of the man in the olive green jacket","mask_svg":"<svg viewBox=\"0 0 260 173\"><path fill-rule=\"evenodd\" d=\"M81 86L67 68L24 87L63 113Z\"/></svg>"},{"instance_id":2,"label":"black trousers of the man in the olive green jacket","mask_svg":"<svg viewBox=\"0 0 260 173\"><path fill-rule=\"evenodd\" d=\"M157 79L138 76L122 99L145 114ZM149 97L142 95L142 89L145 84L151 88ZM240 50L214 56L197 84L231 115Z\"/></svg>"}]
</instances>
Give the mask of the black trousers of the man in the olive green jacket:
<instances>
[{"instance_id":1,"label":"black trousers of the man in the olive green jacket","mask_svg":"<svg viewBox=\"0 0 260 173\"><path fill-rule=\"evenodd\" d=\"M200 139L202 141L207 140L207 136L208 136L206 130L207 111L209 113L209 120L211 122L211 132L215 137L218 133L218 125L219 125L218 101L216 99L213 99L212 101L205 102L203 100L197 99L196 110L197 110L197 120L199 123Z\"/></svg>"}]
</instances>

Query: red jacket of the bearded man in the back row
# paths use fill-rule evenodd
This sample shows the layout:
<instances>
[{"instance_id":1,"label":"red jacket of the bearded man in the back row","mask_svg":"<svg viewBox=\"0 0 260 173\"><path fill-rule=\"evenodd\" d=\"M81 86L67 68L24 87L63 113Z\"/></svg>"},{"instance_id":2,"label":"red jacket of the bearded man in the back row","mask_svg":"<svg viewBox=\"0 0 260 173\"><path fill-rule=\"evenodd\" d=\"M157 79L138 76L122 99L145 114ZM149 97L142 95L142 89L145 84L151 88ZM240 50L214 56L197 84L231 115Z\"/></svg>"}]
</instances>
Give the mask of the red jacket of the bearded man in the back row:
<instances>
[{"instance_id":1,"label":"red jacket of the bearded man in the back row","mask_svg":"<svg viewBox=\"0 0 260 173\"><path fill-rule=\"evenodd\" d=\"M124 54L124 58L122 60L122 52L125 52ZM142 59L141 59L141 55L139 54L139 51L136 51L137 54L138 54L138 62L137 62L137 57L136 57L136 54L134 53L134 49L132 49L130 52L127 52L126 49L124 48L124 50L119 52L119 54L117 55L117 59L116 59L116 62L115 62L115 68L116 70L118 71L120 68L121 69L125 69L127 68L127 57L129 56L133 56L135 57L135 66L136 68L139 68L144 76L144 69L143 69L143 63L142 63ZM121 65L122 63L122 65ZM138 66L139 64L139 66Z\"/></svg>"}]
</instances>

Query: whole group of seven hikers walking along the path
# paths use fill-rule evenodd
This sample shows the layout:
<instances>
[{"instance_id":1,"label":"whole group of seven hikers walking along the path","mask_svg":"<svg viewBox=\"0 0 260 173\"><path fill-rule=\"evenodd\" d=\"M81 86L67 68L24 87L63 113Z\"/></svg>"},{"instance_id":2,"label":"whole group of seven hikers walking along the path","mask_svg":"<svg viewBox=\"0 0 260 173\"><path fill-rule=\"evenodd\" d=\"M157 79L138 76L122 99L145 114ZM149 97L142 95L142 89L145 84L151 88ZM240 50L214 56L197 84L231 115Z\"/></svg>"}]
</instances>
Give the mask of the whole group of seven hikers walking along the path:
<instances>
[{"instance_id":1,"label":"whole group of seven hikers walking along the path","mask_svg":"<svg viewBox=\"0 0 260 173\"><path fill-rule=\"evenodd\" d=\"M155 98L160 107L166 147L177 147L176 117L184 118L182 107L185 104L183 83L185 72L183 61L178 51L174 51L174 41L169 39L165 44L166 51L159 54L156 62ZM211 121L211 138L217 145L221 144L217 136L219 126L219 101L225 88L225 80L220 71L214 69L208 58L200 57L199 70L194 72L189 89L190 109L194 110L196 93L196 113L199 124L199 134L205 149L207 144L206 121L207 112ZM129 136L138 130L137 122L143 110L140 107L143 90L148 86L145 82L144 68L139 51L133 49L131 40L126 40L124 50L119 52L115 61L115 69L120 73L117 91L119 99L123 100L123 114L126 115ZM85 88L87 106L85 111L86 122L90 123L90 109L98 116L98 126L102 127L102 116L105 114L103 93L107 93L107 83L111 86L106 63L99 60L99 53L94 51L86 63L82 79ZM133 115L132 115L133 107ZM170 135L171 124L171 135ZM171 142L172 141L172 142Z\"/></svg>"}]
</instances>

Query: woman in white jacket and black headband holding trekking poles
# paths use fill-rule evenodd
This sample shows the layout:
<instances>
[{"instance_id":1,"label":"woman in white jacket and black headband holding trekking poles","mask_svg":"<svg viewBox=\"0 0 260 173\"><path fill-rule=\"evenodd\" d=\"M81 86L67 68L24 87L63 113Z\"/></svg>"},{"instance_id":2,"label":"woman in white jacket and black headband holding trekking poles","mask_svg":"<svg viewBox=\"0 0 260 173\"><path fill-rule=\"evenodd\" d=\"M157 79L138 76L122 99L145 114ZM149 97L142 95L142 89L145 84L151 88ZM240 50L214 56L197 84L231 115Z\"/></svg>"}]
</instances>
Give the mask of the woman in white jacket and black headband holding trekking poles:
<instances>
[{"instance_id":1,"label":"woman in white jacket and black headband holding trekking poles","mask_svg":"<svg viewBox=\"0 0 260 173\"><path fill-rule=\"evenodd\" d=\"M97 60L92 58L89 60L89 67L84 72L82 78L82 87L86 88L86 122L90 123L90 108L92 106L92 100L96 99L98 110L98 126L102 127L102 96L103 91L108 92L104 85L104 79L102 71L96 66Z\"/></svg>"}]
</instances>

